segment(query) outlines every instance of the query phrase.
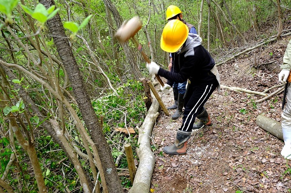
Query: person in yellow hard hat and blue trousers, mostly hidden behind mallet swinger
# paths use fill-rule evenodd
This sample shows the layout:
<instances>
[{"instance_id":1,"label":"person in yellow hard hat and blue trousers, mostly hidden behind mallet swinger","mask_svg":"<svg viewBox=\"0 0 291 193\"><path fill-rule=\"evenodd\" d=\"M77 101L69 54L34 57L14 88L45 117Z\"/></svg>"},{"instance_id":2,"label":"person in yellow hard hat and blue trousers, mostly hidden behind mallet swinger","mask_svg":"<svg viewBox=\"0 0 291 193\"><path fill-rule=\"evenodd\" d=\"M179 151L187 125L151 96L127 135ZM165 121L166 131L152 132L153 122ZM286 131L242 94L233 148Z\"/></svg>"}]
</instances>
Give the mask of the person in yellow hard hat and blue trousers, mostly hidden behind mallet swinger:
<instances>
[{"instance_id":1,"label":"person in yellow hard hat and blue trousers, mostly hidden behind mallet swinger","mask_svg":"<svg viewBox=\"0 0 291 193\"><path fill-rule=\"evenodd\" d=\"M178 19L178 20L182 21L188 27L189 33L197 34L197 31L196 31L194 25L187 23L183 19L183 15L182 15L181 10L175 5L170 5L166 11L166 20L171 21L173 19ZM170 63L168 66L170 72L174 71L174 66L173 66L174 59L175 59L175 54L170 53ZM172 82L170 80L167 80L167 84L173 88L173 94L174 94L174 104L172 104L171 106L169 106L167 108L168 109L177 109L175 111L175 113L172 115L172 119L178 119L183 114L184 94L186 92L187 81Z\"/></svg>"}]
</instances>

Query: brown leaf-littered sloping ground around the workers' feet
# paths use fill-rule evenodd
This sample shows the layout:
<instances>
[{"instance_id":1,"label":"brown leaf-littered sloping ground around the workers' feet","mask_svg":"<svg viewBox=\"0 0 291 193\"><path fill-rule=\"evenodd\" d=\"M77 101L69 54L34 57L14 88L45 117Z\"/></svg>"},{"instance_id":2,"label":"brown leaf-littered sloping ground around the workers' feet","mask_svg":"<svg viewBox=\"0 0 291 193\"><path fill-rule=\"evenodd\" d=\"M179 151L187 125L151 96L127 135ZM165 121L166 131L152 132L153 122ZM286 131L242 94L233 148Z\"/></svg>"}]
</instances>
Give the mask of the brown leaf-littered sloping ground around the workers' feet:
<instances>
[{"instance_id":1,"label":"brown leaf-littered sloping ground around the workers' feet","mask_svg":"<svg viewBox=\"0 0 291 193\"><path fill-rule=\"evenodd\" d=\"M279 67L290 39L284 37L219 65L221 84L259 92L280 85ZM165 106L173 104L172 89L169 95L160 93ZM151 192L291 193L291 162L280 154L284 142L256 123L260 114L281 121L283 92L256 103L262 98L225 88L220 93L215 90L205 105L212 125L192 133L185 155L162 152L174 143L182 117L174 121L175 110L169 110L170 116L160 110L152 133L156 163Z\"/></svg>"}]
</instances>

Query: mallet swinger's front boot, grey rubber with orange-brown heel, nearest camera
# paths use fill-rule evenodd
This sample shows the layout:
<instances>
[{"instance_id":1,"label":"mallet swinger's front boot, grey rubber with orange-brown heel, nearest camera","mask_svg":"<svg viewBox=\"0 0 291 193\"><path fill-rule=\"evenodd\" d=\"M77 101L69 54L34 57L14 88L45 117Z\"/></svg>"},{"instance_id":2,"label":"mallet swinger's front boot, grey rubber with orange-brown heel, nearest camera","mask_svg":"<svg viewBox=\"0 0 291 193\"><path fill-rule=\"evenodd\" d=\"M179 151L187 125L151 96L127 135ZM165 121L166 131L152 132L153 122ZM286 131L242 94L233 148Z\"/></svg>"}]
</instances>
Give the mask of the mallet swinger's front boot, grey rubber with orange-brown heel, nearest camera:
<instances>
[{"instance_id":1,"label":"mallet swinger's front boot, grey rubber with orange-brown heel, nearest camera","mask_svg":"<svg viewBox=\"0 0 291 193\"><path fill-rule=\"evenodd\" d=\"M166 154L176 155L185 154L187 152L187 141L191 137L191 132L183 132L178 130L176 135L175 144L172 146L166 146L162 150Z\"/></svg>"}]
</instances>

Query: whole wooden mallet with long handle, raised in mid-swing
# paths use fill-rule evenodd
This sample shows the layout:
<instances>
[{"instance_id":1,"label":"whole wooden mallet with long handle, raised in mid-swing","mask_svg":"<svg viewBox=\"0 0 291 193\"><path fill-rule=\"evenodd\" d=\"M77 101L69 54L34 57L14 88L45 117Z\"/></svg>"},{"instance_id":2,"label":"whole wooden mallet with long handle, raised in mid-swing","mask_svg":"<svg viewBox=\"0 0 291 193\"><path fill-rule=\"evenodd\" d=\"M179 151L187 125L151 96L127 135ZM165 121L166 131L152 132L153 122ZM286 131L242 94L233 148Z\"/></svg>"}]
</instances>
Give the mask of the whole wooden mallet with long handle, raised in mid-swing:
<instances>
[{"instance_id":1,"label":"whole wooden mallet with long handle, raised in mid-swing","mask_svg":"<svg viewBox=\"0 0 291 193\"><path fill-rule=\"evenodd\" d=\"M134 35L142 29L142 22L139 19L138 16L132 17L129 19L129 21L123 22L121 27L116 31L115 37L119 40L120 43L124 44L126 41L128 41L130 38L131 40L136 44L138 50L142 53L143 58L145 59L146 63L150 63L150 60L146 56L145 52L143 51L142 46L136 41L134 38ZM160 82L161 86L163 87L164 84L162 82L162 79L159 75L155 74L156 78Z\"/></svg>"}]
</instances>

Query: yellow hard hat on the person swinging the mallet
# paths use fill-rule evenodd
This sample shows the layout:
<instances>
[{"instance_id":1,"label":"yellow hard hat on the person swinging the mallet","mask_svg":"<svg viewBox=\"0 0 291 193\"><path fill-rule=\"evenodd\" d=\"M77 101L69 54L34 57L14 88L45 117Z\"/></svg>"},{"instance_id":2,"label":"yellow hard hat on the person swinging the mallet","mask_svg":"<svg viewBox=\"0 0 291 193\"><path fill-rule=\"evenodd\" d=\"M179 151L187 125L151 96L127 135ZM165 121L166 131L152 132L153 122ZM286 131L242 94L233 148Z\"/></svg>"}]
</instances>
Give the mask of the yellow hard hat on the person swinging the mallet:
<instances>
[{"instance_id":1,"label":"yellow hard hat on the person swinging the mallet","mask_svg":"<svg viewBox=\"0 0 291 193\"><path fill-rule=\"evenodd\" d=\"M177 52L187 40L188 27L178 19L169 21L162 30L161 48L166 52Z\"/></svg>"}]
</instances>

